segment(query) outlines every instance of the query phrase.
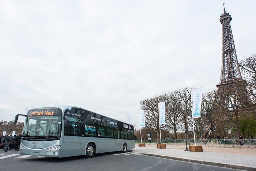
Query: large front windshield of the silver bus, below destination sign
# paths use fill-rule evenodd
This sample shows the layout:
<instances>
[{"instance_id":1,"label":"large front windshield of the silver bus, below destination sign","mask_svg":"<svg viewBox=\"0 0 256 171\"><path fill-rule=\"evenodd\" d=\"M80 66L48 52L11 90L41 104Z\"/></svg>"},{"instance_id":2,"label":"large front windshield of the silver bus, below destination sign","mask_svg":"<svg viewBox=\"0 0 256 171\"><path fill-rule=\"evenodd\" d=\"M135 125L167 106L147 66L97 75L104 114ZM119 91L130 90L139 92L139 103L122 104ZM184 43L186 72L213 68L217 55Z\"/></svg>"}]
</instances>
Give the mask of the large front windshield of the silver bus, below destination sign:
<instances>
[{"instance_id":1,"label":"large front windshield of the silver bus, below destination sign","mask_svg":"<svg viewBox=\"0 0 256 171\"><path fill-rule=\"evenodd\" d=\"M60 116L33 116L27 118L23 137L57 138L60 137L60 132Z\"/></svg>"}]
</instances>

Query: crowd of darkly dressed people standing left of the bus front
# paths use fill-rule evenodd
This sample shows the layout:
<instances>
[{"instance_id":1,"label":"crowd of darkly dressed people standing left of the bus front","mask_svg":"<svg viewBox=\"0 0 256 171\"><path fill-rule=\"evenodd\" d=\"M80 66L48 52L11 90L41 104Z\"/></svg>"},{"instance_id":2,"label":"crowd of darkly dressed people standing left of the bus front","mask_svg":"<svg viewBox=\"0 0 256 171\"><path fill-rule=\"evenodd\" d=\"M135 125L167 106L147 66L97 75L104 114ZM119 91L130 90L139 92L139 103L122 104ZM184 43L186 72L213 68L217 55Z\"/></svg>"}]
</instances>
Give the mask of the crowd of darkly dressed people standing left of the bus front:
<instances>
[{"instance_id":1,"label":"crowd of darkly dressed people standing left of the bus front","mask_svg":"<svg viewBox=\"0 0 256 171\"><path fill-rule=\"evenodd\" d=\"M8 150L14 149L15 151L19 150L20 140L22 133L17 135L10 135L9 133L4 135L0 135L0 148L3 149L4 152L8 152Z\"/></svg>"}]
</instances>

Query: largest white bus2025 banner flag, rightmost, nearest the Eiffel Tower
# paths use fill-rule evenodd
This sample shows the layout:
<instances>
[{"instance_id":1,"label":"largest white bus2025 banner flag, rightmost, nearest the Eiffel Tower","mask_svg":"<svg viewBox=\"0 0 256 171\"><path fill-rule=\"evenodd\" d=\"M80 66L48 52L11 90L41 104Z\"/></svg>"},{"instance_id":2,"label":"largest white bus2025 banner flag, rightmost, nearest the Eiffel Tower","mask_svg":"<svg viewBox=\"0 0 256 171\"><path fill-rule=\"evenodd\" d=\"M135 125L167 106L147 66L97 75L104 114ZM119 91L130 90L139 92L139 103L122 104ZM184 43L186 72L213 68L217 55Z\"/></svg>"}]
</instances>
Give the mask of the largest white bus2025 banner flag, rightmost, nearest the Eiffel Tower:
<instances>
[{"instance_id":1,"label":"largest white bus2025 banner flag, rightmost, nearest the Eiffel Tower","mask_svg":"<svg viewBox=\"0 0 256 171\"><path fill-rule=\"evenodd\" d=\"M193 119L201 117L202 88L192 90L192 112Z\"/></svg>"}]
</instances>

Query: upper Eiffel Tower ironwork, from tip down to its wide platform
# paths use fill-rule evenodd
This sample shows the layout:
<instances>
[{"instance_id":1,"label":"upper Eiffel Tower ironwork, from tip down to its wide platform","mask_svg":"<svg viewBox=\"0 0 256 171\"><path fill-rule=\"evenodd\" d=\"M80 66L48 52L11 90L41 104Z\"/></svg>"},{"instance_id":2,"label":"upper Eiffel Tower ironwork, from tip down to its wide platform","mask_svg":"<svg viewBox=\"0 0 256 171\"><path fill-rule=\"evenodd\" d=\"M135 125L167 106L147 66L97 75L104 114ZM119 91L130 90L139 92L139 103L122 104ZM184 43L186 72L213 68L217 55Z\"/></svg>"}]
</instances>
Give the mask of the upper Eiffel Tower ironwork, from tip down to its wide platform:
<instances>
[{"instance_id":1,"label":"upper Eiffel Tower ironwork, from tip down to its wide platform","mask_svg":"<svg viewBox=\"0 0 256 171\"><path fill-rule=\"evenodd\" d=\"M230 26L232 18L229 12L226 12L224 4L223 7L224 12L219 19L222 24L221 79L219 81L219 84L217 84L217 87L226 87L230 84L237 84L238 82L246 85L246 81L242 79L241 72L238 66L236 48Z\"/></svg>"}]
</instances>

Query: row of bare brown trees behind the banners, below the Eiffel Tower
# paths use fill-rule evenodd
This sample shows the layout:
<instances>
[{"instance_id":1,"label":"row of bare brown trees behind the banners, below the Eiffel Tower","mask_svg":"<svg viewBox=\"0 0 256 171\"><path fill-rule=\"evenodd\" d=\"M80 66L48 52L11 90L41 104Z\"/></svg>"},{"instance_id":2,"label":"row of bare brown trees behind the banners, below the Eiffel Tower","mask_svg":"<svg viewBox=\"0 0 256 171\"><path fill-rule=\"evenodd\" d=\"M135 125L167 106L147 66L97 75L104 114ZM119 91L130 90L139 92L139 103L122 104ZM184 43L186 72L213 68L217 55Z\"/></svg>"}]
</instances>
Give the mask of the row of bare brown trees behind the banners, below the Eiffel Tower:
<instances>
[{"instance_id":1,"label":"row of bare brown trees behind the banners, below the Eiffel Tower","mask_svg":"<svg viewBox=\"0 0 256 171\"><path fill-rule=\"evenodd\" d=\"M247 84L245 81L238 81L228 87L203 94L201 117L194 119L197 139L202 139L209 129L210 138L226 137L227 130L231 133L231 138L238 137L239 134L253 138L256 134L255 65L256 55L240 62L241 73ZM177 132L189 134L189 130L193 131L191 90L192 88L186 87L140 102L140 108L145 110L146 129L155 130L158 142L159 102L166 103L166 124L161 125L161 132L169 130L177 139ZM187 139L192 138L188 136Z\"/></svg>"}]
</instances>

